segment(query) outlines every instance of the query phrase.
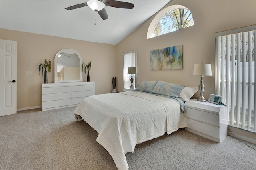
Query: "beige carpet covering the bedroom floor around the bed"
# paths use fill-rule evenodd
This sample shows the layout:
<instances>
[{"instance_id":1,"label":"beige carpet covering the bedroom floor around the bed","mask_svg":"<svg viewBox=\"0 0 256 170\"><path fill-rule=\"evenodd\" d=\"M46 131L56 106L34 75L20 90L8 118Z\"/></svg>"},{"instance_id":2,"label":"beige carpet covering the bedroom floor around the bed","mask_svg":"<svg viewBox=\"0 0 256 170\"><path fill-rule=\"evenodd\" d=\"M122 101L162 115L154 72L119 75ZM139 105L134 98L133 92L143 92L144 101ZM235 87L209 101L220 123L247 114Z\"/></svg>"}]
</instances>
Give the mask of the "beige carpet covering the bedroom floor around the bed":
<instances>
[{"instance_id":1,"label":"beige carpet covering the bedroom floor around the bed","mask_svg":"<svg viewBox=\"0 0 256 170\"><path fill-rule=\"evenodd\" d=\"M116 170L98 133L74 121L74 109L0 117L0 170ZM236 138L218 144L184 129L137 144L126 158L130 170L256 169L256 151Z\"/></svg>"}]
</instances>

